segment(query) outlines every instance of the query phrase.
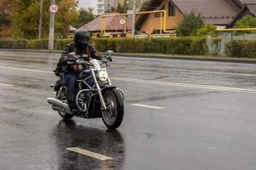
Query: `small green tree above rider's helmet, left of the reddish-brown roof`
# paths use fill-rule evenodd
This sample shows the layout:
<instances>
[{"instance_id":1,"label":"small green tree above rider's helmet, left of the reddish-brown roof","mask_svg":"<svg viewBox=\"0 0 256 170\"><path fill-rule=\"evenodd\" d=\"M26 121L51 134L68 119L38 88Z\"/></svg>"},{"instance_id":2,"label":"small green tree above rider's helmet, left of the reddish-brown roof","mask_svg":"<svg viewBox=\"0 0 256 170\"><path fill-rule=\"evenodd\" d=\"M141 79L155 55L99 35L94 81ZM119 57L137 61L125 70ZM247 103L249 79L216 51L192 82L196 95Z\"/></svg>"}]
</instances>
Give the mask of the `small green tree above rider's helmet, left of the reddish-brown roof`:
<instances>
[{"instance_id":1,"label":"small green tree above rider's helmet, left of the reddish-brown roof","mask_svg":"<svg viewBox=\"0 0 256 170\"><path fill-rule=\"evenodd\" d=\"M84 26L84 24L90 22L90 20L93 20L96 18L96 15L93 14L93 8L80 8L79 9L79 17L78 21L74 23L74 27L79 28L81 26Z\"/></svg>"}]
</instances>

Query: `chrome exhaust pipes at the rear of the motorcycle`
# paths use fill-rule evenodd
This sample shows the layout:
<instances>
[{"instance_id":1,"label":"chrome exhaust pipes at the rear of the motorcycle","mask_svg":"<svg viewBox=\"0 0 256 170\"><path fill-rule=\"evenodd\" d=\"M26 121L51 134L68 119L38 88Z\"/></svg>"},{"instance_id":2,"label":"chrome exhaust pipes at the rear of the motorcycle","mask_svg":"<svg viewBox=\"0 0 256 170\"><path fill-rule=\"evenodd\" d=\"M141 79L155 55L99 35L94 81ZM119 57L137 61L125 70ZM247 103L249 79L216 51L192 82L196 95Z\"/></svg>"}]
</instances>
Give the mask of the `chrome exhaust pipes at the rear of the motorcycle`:
<instances>
[{"instance_id":1,"label":"chrome exhaust pipes at the rear of the motorcycle","mask_svg":"<svg viewBox=\"0 0 256 170\"><path fill-rule=\"evenodd\" d=\"M66 103L63 103L59 99L47 98L47 102L49 103L49 105L52 105L51 107L54 111L62 111L67 114L72 114L72 112L69 110L68 105Z\"/></svg>"}]
</instances>

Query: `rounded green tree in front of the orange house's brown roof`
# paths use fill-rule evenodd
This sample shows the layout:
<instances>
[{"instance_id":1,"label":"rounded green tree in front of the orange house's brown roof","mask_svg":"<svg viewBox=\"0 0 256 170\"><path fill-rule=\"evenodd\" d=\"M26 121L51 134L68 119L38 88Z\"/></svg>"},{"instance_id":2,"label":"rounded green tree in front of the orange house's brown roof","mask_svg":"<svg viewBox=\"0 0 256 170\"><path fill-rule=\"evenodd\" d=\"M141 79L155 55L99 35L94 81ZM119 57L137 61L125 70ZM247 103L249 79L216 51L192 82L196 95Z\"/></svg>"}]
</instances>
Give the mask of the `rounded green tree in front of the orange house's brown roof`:
<instances>
[{"instance_id":1,"label":"rounded green tree in front of the orange house's brown roof","mask_svg":"<svg viewBox=\"0 0 256 170\"><path fill-rule=\"evenodd\" d=\"M201 14L196 11L191 11L189 14L184 14L183 20L178 24L176 31L177 36L192 36L196 31L204 26L204 21Z\"/></svg>"}]
</instances>

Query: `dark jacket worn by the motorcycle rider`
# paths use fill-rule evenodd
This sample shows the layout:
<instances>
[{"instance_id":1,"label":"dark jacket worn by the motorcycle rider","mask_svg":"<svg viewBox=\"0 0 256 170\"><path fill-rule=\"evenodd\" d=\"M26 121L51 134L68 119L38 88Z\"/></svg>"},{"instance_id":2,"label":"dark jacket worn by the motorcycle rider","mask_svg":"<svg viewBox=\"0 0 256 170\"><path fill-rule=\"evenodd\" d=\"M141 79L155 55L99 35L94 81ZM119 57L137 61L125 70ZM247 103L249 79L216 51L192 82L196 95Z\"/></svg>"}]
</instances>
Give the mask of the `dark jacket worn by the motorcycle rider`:
<instances>
[{"instance_id":1,"label":"dark jacket worn by the motorcycle rider","mask_svg":"<svg viewBox=\"0 0 256 170\"><path fill-rule=\"evenodd\" d=\"M91 44L88 44L85 48L77 48L75 43L68 43L64 48L64 52L61 54L61 59L57 65L58 70L65 71L66 73L77 74L77 72L73 71L73 65L68 65L67 61L70 60L67 56L68 53L75 53L78 55L83 55L84 60L89 61L90 58L94 59L102 59L101 54L97 54L95 48ZM85 55L84 55L85 54Z\"/></svg>"}]
</instances>

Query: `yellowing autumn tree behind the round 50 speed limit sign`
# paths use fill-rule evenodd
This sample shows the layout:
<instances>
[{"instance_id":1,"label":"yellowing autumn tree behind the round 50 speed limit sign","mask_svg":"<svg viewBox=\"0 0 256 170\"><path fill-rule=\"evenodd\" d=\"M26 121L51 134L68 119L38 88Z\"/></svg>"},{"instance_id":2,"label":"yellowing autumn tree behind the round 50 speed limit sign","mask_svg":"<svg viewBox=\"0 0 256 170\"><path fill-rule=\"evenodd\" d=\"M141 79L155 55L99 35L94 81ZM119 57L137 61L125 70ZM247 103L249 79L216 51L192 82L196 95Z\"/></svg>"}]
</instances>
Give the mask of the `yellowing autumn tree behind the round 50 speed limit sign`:
<instances>
[{"instance_id":1,"label":"yellowing autumn tree behind the round 50 speed limit sign","mask_svg":"<svg viewBox=\"0 0 256 170\"><path fill-rule=\"evenodd\" d=\"M55 33L67 37L69 26L77 20L77 0L56 0L58 12L55 14ZM49 1L44 1L43 37L49 33ZM38 37L40 0L19 0L15 3L13 28L15 37L28 39Z\"/></svg>"}]
</instances>

